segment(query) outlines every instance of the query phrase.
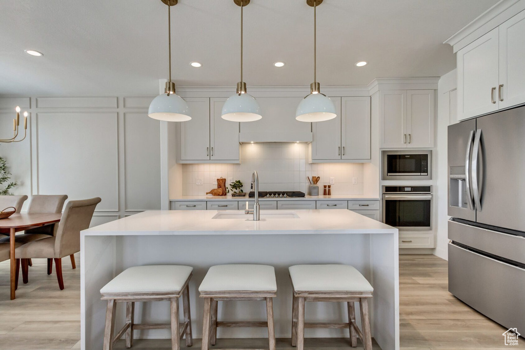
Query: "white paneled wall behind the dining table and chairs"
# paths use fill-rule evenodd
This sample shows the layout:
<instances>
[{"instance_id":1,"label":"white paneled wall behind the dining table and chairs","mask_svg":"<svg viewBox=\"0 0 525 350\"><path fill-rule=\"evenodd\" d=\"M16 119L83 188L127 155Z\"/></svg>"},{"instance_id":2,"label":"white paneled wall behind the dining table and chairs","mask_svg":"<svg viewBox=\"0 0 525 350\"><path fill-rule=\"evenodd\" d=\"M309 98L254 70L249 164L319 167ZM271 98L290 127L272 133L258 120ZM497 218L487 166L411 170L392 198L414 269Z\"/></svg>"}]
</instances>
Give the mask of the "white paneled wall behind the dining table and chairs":
<instances>
[{"instance_id":1,"label":"white paneled wall behind the dining table and chairs","mask_svg":"<svg viewBox=\"0 0 525 350\"><path fill-rule=\"evenodd\" d=\"M30 112L27 139L0 144L20 182L13 193L100 197L92 225L160 209L160 122L147 116L151 99L1 97L0 137L9 137L17 105Z\"/></svg>"}]
</instances>

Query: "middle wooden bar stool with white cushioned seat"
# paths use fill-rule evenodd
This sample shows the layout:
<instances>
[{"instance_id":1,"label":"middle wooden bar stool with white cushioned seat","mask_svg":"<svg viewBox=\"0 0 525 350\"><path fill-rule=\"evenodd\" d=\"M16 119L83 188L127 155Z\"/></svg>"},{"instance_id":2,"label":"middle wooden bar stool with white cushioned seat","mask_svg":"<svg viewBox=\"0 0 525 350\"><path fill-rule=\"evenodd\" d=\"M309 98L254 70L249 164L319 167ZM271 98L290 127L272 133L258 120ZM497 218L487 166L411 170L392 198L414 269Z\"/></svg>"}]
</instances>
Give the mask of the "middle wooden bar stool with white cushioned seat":
<instances>
[{"instance_id":1,"label":"middle wooden bar stool with white cushioned seat","mask_svg":"<svg viewBox=\"0 0 525 350\"><path fill-rule=\"evenodd\" d=\"M269 349L275 350L274 300L277 293L275 269L268 265L216 265L199 286L204 298L202 350L215 345L217 327L268 327ZM230 300L266 301L267 322L219 322L217 302Z\"/></svg>"}]
</instances>

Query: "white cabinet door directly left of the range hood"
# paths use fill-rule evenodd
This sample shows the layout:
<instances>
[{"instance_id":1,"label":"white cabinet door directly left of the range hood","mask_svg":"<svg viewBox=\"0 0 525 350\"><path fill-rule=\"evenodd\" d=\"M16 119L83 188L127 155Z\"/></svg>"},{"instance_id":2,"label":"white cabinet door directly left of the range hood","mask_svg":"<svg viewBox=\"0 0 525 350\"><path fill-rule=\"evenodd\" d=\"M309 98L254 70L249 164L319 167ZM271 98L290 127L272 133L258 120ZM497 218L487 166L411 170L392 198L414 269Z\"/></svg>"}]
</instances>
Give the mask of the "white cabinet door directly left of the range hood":
<instances>
[{"instance_id":1,"label":"white cabinet door directly left of the range hood","mask_svg":"<svg viewBox=\"0 0 525 350\"><path fill-rule=\"evenodd\" d=\"M220 117L225 98L211 98L210 118L210 159L239 160L239 123Z\"/></svg>"}]
</instances>

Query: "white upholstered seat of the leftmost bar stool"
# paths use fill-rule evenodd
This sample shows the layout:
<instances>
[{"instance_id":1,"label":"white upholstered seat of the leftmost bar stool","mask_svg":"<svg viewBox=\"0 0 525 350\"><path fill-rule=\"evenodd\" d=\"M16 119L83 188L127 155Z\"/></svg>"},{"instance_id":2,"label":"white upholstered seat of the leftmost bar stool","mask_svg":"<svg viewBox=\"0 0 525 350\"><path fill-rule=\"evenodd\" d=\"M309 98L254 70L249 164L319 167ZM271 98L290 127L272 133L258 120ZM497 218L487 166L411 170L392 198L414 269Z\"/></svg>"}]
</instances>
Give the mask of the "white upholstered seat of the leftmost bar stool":
<instances>
[{"instance_id":1,"label":"white upholstered seat of the leftmost bar stool","mask_svg":"<svg viewBox=\"0 0 525 350\"><path fill-rule=\"evenodd\" d=\"M183 265L133 266L103 286L100 293L178 293L192 271L193 267Z\"/></svg>"}]
</instances>

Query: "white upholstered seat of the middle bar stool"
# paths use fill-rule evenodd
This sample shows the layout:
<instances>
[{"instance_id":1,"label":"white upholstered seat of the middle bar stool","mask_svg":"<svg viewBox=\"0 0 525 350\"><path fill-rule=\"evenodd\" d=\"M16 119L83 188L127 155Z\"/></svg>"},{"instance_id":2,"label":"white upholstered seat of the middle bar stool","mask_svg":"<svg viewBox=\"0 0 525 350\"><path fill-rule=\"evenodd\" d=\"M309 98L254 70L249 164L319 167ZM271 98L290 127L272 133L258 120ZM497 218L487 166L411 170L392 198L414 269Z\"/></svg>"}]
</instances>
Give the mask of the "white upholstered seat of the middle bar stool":
<instances>
[{"instance_id":1,"label":"white upholstered seat of the middle bar stool","mask_svg":"<svg viewBox=\"0 0 525 350\"><path fill-rule=\"evenodd\" d=\"M209 268L199 292L276 292L274 266L230 264L216 265Z\"/></svg>"}]
</instances>

